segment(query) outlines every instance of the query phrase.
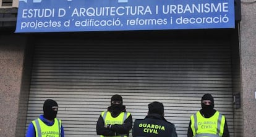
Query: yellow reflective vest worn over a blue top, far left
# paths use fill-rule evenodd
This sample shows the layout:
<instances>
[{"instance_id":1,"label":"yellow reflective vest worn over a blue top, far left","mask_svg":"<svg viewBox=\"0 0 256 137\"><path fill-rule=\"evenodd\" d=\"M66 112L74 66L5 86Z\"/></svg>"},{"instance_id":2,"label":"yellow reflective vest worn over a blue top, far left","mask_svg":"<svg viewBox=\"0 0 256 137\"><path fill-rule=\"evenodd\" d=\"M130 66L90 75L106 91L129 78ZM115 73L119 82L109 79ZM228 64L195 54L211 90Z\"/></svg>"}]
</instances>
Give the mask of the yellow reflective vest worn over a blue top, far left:
<instances>
[{"instance_id":1,"label":"yellow reflective vest worn over a blue top, far left","mask_svg":"<svg viewBox=\"0 0 256 137\"><path fill-rule=\"evenodd\" d=\"M54 119L54 124L51 126L46 125L41 119L32 121L35 127L36 137L60 137L61 136L61 120Z\"/></svg>"}]
</instances>

